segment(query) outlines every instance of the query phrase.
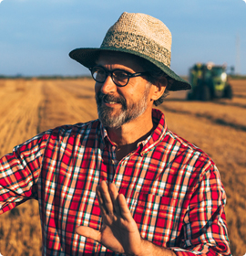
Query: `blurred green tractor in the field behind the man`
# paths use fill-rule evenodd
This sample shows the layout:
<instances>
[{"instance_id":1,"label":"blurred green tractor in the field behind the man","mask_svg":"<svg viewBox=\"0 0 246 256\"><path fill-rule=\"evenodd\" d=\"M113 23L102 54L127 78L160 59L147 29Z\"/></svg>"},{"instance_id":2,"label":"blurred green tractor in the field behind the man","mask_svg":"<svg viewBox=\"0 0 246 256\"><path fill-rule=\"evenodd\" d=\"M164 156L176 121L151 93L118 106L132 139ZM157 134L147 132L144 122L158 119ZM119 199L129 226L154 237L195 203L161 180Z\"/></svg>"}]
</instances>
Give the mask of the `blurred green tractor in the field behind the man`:
<instances>
[{"instance_id":1,"label":"blurred green tractor in the field behind the man","mask_svg":"<svg viewBox=\"0 0 246 256\"><path fill-rule=\"evenodd\" d=\"M227 80L225 66L212 63L195 64L190 69L190 83L192 89L188 93L188 100L232 99L232 89Z\"/></svg>"}]
</instances>

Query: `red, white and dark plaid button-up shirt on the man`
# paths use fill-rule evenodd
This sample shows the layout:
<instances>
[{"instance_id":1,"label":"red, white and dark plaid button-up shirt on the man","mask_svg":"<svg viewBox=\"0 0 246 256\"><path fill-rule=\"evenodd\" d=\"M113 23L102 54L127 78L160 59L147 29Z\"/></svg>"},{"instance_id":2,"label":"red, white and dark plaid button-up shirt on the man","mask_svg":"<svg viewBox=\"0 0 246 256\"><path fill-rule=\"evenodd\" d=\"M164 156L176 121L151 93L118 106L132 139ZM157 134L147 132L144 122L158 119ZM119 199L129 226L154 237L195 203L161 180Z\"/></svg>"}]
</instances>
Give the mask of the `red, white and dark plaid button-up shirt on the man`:
<instances>
[{"instance_id":1,"label":"red, white and dark plaid button-up shirt on the man","mask_svg":"<svg viewBox=\"0 0 246 256\"><path fill-rule=\"evenodd\" d=\"M43 255L115 255L78 236L100 229L96 187L114 182L127 198L141 236L177 255L230 255L220 174L200 149L157 125L137 149L116 159L98 120L41 133L0 161L0 213L28 198L39 202Z\"/></svg>"}]
</instances>

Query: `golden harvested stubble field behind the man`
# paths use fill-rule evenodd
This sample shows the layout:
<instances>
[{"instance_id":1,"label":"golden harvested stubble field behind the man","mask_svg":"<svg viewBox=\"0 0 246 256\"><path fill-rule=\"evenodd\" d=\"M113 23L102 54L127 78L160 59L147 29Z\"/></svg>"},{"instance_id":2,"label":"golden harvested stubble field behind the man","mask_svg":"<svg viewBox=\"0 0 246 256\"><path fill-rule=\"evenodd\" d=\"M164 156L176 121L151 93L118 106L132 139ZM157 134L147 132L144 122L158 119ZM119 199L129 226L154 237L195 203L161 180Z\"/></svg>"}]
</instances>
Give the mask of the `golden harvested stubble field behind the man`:
<instances>
[{"instance_id":1,"label":"golden harvested stubble field behind the man","mask_svg":"<svg viewBox=\"0 0 246 256\"><path fill-rule=\"evenodd\" d=\"M220 170L227 192L231 251L246 252L246 80L232 80L233 100L185 101L170 93L160 109L169 129L208 153ZM60 124L97 118L92 80L0 80L0 155ZM41 255L36 201L0 217L4 256Z\"/></svg>"}]
</instances>

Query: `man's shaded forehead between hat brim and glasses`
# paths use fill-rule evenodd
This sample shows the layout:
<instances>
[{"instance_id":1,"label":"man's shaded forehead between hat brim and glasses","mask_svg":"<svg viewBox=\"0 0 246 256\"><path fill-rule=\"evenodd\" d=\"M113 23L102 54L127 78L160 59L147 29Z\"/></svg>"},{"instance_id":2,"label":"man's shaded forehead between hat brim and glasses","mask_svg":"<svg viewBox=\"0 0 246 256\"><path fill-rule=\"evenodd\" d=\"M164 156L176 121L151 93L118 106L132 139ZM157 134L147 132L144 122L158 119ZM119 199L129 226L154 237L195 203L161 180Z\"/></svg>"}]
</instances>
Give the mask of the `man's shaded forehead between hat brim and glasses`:
<instances>
[{"instance_id":1,"label":"man's shaded forehead between hat brim and glasses","mask_svg":"<svg viewBox=\"0 0 246 256\"><path fill-rule=\"evenodd\" d=\"M142 71L141 59L138 56L115 51L103 51L97 59L97 64L102 66L122 66L128 69Z\"/></svg>"}]
</instances>

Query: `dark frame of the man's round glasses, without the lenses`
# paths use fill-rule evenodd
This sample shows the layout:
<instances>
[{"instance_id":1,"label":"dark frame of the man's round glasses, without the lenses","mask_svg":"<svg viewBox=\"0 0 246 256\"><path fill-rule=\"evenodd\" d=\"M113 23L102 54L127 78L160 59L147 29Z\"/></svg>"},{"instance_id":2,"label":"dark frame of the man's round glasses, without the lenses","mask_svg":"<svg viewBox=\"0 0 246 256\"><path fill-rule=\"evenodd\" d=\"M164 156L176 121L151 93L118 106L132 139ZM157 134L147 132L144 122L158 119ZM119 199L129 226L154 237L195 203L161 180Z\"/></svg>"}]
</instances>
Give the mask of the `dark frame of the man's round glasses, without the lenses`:
<instances>
[{"instance_id":1,"label":"dark frame of the man's round glasses, without the lenses","mask_svg":"<svg viewBox=\"0 0 246 256\"><path fill-rule=\"evenodd\" d=\"M93 76L94 74L94 69L102 69L105 71L105 79L104 80L97 80L97 78L95 78ZM105 69L104 67L101 67L101 66L94 66L94 67L91 67L89 68L90 72L91 72L91 76L94 80L96 80L97 82L99 83L104 83L107 78L108 78L108 75L110 75L112 81L118 86L118 87L125 87L127 84L128 84L128 81L130 78L135 78L135 77L140 77L140 76L144 76L144 75L149 75L149 72L148 71L145 71L145 72L137 72L137 73L130 73L124 69L113 69L113 70L108 70L108 69ZM119 84L117 80L115 80L115 76L113 75L115 71L122 71L124 73L126 73L128 75L128 80L126 82L126 84Z\"/></svg>"}]
</instances>

